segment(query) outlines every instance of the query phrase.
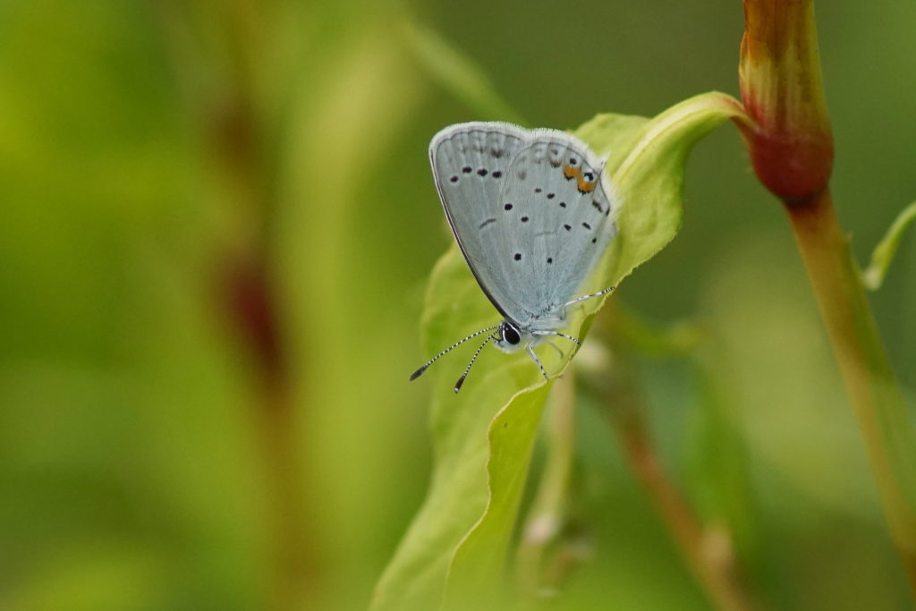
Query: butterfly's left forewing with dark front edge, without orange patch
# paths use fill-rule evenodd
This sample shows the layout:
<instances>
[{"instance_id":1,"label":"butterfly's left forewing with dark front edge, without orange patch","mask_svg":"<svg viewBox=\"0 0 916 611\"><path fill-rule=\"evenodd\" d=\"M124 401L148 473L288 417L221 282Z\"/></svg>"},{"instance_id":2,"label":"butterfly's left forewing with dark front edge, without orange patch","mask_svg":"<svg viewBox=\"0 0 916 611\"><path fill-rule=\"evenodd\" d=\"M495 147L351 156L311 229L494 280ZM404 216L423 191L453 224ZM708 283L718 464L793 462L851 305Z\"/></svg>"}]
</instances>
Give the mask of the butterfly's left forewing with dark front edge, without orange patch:
<instances>
[{"instance_id":1,"label":"butterfly's left forewing with dark front edge, without orange patch","mask_svg":"<svg viewBox=\"0 0 916 611\"><path fill-rule=\"evenodd\" d=\"M503 316L523 311L508 275L505 202L510 162L529 145L529 130L505 123L463 123L432 138L432 175L442 208L474 278Z\"/></svg>"}]
</instances>

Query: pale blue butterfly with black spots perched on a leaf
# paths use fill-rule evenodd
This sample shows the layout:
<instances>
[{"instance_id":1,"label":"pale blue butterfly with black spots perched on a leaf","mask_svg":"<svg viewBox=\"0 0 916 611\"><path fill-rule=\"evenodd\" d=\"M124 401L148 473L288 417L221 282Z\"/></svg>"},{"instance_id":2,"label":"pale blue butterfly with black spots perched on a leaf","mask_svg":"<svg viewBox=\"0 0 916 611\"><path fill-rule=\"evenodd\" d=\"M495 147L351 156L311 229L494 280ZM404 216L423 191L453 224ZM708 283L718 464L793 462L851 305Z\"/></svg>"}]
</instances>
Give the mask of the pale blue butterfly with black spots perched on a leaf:
<instances>
[{"instance_id":1,"label":"pale blue butterfly with black spots perched on a leaf","mask_svg":"<svg viewBox=\"0 0 916 611\"><path fill-rule=\"evenodd\" d=\"M525 349L548 378L534 345L561 333L573 303L614 289L574 297L616 235L619 198L602 177L606 158L582 140L554 129L498 122L450 125L432 138L432 175L455 240L474 278L503 322L471 333L433 356L487 335L507 353Z\"/></svg>"}]
</instances>

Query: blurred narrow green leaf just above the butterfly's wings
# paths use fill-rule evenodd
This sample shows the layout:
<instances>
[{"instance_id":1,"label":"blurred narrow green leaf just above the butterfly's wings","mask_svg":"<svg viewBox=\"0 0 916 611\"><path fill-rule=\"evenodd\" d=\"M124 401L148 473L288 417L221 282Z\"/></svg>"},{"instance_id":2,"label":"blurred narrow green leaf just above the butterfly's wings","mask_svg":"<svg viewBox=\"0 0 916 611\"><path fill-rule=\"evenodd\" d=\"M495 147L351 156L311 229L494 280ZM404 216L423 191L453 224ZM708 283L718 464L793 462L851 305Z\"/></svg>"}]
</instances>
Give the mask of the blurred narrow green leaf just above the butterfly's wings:
<instances>
[{"instance_id":1,"label":"blurred narrow green leaf just above the butterfly's wings","mask_svg":"<svg viewBox=\"0 0 916 611\"><path fill-rule=\"evenodd\" d=\"M403 26L408 47L431 77L467 104L479 118L511 121L525 125L512 106L503 100L493 83L474 60L455 49L438 32L406 22Z\"/></svg>"}]
</instances>

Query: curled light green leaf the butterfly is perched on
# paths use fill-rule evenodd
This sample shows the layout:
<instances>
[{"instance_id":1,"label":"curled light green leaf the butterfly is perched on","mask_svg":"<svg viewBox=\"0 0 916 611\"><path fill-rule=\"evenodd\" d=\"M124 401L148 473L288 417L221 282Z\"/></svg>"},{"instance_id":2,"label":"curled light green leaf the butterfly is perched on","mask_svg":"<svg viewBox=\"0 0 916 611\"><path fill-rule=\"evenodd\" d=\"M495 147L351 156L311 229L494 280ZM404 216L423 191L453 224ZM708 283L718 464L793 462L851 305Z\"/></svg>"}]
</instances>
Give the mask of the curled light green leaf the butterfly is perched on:
<instances>
[{"instance_id":1,"label":"curled light green leaf the butterfly is perched on","mask_svg":"<svg viewBox=\"0 0 916 611\"><path fill-rule=\"evenodd\" d=\"M652 119L598 115L574 133L599 154L622 198L620 233L583 293L614 286L658 253L681 224L683 163L692 145L725 119L743 117L722 93L705 93ZM583 337L603 299L583 302L570 328ZM430 354L499 316L454 245L433 269L423 319ZM468 353L431 368L434 464L430 491L376 588L373 608L469 608L493 604L551 382L527 355L485 350L454 395ZM566 362L540 353L549 372Z\"/></svg>"}]
</instances>

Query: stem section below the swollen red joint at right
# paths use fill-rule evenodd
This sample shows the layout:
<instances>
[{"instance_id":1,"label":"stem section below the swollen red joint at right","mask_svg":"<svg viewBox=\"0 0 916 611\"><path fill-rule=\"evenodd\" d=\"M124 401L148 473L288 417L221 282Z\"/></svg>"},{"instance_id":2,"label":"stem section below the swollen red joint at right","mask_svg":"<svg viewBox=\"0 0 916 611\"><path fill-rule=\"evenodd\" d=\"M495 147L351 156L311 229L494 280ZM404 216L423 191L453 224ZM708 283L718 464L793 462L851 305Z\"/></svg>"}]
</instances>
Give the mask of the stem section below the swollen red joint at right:
<instances>
[{"instance_id":1,"label":"stem section below the swollen red joint at right","mask_svg":"<svg viewBox=\"0 0 916 611\"><path fill-rule=\"evenodd\" d=\"M786 205L795 240L830 334L891 536L916 595L916 429L890 368L871 310L836 220L829 190Z\"/></svg>"}]
</instances>

